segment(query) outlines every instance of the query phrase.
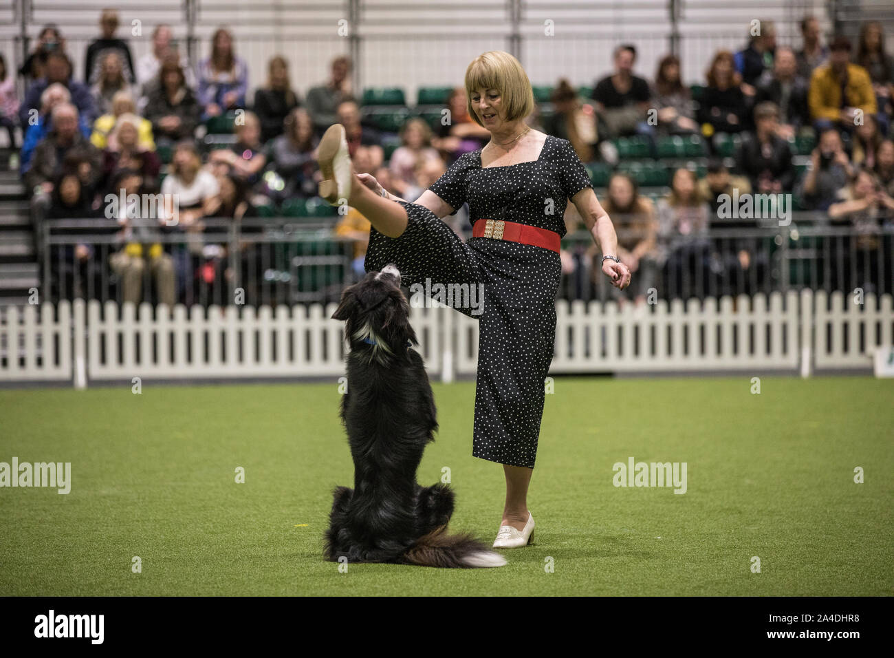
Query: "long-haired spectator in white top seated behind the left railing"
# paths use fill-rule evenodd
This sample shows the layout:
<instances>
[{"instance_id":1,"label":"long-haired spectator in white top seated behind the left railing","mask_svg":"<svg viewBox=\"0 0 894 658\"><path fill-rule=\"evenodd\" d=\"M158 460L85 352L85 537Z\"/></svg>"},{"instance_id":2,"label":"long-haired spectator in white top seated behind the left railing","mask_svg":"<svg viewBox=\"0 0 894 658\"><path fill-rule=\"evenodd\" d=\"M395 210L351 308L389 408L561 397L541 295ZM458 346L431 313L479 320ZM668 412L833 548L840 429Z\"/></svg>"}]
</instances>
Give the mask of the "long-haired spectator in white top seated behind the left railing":
<instances>
[{"instance_id":1,"label":"long-haired spectator in white top seated behind the left railing","mask_svg":"<svg viewBox=\"0 0 894 658\"><path fill-rule=\"evenodd\" d=\"M195 298L203 263L202 218L212 209L219 192L215 176L202 168L195 144L178 143L173 151L171 173L162 182L162 219L170 230L184 238L185 244L173 248L173 261L179 289L185 293L188 304Z\"/></svg>"}]
</instances>

